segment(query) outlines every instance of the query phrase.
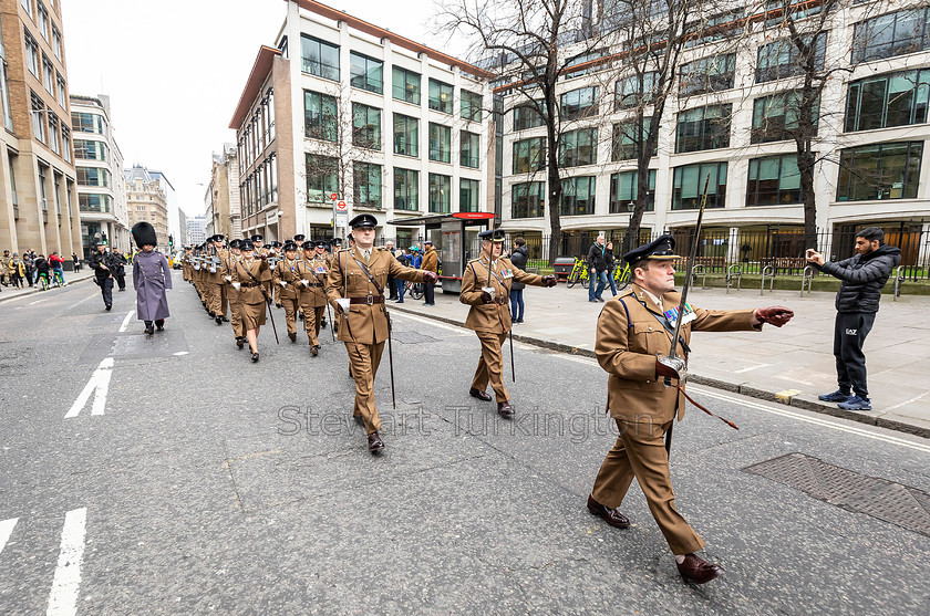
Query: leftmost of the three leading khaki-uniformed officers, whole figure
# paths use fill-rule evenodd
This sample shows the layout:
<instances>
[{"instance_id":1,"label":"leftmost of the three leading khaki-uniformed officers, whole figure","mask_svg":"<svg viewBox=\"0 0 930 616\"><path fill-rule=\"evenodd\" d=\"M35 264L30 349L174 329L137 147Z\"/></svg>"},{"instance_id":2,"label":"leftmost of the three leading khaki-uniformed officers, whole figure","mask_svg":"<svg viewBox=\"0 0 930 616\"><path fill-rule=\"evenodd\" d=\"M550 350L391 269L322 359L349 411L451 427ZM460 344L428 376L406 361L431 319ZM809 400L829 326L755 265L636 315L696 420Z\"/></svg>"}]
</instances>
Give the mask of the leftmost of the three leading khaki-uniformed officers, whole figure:
<instances>
[{"instance_id":1,"label":"leftmost of the three leading khaki-uniformed officers, whole figure","mask_svg":"<svg viewBox=\"0 0 930 616\"><path fill-rule=\"evenodd\" d=\"M388 275L413 282L436 282L436 274L401 265L383 248L374 248L378 220L362 213L350 222L356 246L333 258L329 270L327 295L335 310L344 315L339 340L345 343L349 363L355 379L355 406L352 415L364 421L369 451L384 449L378 434L381 419L374 406L374 376L389 336L388 312L384 309L384 284Z\"/></svg>"}]
</instances>

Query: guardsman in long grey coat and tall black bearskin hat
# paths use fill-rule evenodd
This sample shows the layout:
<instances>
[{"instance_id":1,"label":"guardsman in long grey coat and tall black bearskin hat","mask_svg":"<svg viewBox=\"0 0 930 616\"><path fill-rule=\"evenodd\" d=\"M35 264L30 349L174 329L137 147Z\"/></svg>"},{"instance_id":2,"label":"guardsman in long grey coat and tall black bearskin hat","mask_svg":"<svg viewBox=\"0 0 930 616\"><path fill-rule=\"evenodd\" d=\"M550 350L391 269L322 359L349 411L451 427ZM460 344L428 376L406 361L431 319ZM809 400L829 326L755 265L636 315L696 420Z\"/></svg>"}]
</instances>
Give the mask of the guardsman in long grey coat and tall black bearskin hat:
<instances>
[{"instance_id":1,"label":"guardsman in long grey coat and tall black bearskin hat","mask_svg":"<svg viewBox=\"0 0 930 616\"><path fill-rule=\"evenodd\" d=\"M133 225L133 239L142 252L133 259L133 286L136 291L136 317L145 323L149 336L165 328L168 312L167 290L172 288L172 269L164 254L155 250L158 238L148 222ZM153 327L154 326L154 327Z\"/></svg>"}]
</instances>

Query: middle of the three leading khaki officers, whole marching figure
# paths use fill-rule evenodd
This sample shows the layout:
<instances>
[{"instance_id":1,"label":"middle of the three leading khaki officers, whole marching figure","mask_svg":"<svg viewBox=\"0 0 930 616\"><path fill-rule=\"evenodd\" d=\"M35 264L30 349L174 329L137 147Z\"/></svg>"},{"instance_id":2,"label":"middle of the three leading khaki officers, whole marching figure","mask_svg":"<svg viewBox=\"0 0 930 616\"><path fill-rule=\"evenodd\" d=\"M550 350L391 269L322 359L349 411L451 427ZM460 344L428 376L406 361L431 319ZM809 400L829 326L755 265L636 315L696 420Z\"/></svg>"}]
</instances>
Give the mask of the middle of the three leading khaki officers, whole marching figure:
<instances>
[{"instance_id":1,"label":"middle of the three leading khaki officers, whole marching figure","mask_svg":"<svg viewBox=\"0 0 930 616\"><path fill-rule=\"evenodd\" d=\"M478 233L482 239L482 255L465 265L458 301L472 306L465 326L474 330L482 342L482 357L478 359L478 368L475 370L468 394L479 400L490 401L490 395L485 391L490 382L497 397L497 413L502 417L510 417L514 415L514 407L510 406L510 395L504 387L504 356L500 352L500 346L507 340L507 332L513 326L509 309L510 284L517 281L535 286L555 286L556 276L526 273L515 268L508 259L502 258L504 236L504 231L499 229Z\"/></svg>"}]
</instances>

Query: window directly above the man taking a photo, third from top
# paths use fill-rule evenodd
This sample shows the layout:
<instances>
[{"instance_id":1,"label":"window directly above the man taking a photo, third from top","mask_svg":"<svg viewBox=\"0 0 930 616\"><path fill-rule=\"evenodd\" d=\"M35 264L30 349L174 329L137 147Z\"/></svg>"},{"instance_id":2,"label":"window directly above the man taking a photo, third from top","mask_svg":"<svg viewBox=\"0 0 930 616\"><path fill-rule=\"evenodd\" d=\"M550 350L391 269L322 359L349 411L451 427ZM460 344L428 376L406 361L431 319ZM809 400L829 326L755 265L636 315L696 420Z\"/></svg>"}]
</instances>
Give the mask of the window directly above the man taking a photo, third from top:
<instances>
[{"instance_id":1,"label":"window directly above the man taking a photo, third from top","mask_svg":"<svg viewBox=\"0 0 930 616\"><path fill-rule=\"evenodd\" d=\"M841 149L837 201L917 198L922 155L923 142Z\"/></svg>"}]
</instances>

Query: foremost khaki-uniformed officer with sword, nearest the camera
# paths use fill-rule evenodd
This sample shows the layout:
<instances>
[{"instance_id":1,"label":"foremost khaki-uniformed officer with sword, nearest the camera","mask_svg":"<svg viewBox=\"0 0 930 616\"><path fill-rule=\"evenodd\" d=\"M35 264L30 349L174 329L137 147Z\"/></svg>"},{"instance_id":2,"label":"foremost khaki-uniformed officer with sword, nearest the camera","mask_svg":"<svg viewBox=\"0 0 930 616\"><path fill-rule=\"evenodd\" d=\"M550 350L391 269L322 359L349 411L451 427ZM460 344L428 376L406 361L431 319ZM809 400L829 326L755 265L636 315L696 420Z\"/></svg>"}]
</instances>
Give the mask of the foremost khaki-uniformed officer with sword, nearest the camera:
<instances>
[{"instance_id":1,"label":"foremost khaki-uniformed officer with sword, nearest the camera","mask_svg":"<svg viewBox=\"0 0 930 616\"><path fill-rule=\"evenodd\" d=\"M658 361L669 355L681 294L674 291L674 239L662 236L623 255L630 264L633 283L618 297L609 300L597 326L595 352L608 380L608 410L617 420L620 437L598 472L588 510L611 526L630 525L617 508L636 477L645 494L649 510L675 555L681 575L703 584L723 573L694 552L703 540L688 525L675 508L669 476L669 455L663 438L675 416L684 417L684 389L679 390L679 373ZM690 305L683 311L678 357L686 357L691 332L758 331L763 323L782 326L793 316L781 306L709 311ZM668 443L671 445L671 441Z\"/></svg>"}]
</instances>

